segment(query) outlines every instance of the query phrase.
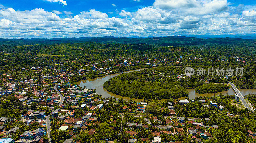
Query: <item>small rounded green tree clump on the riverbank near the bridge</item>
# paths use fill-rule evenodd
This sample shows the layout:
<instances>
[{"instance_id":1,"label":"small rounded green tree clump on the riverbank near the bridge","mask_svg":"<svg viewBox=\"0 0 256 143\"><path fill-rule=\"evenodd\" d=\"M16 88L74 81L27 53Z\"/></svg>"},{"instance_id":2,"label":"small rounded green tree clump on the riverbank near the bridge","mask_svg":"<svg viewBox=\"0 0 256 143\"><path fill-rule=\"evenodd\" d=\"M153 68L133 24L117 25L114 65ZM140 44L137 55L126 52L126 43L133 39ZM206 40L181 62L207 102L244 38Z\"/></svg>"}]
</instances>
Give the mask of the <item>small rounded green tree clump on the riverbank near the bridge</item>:
<instances>
[{"instance_id":1,"label":"small rounded green tree clump on the riverbank near the bridge","mask_svg":"<svg viewBox=\"0 0 256 143\"><path fill-rule=\"evenodd\" d=\"M195 92L200 93L200 94L216 93L216 92L221 92L221 91L227 91L228 88L229 87L225 84L208 83L208 84L204 84L204 85L196 87Z\"/></svg>"}]
</instances>

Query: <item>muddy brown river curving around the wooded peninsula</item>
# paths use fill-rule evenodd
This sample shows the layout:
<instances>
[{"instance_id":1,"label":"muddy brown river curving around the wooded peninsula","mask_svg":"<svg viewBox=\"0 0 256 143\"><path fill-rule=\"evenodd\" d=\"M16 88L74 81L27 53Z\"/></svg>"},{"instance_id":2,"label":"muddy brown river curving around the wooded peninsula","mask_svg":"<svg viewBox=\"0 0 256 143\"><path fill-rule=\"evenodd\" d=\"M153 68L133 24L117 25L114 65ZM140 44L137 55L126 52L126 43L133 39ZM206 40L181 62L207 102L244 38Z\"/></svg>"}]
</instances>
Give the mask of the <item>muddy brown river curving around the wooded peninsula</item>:
<instances>
[{"instance_id":1,"label":"muddy brown river curving around the wooded peninsula","mask_svg":"<svg viewBox=\"0 0 256 143\"><path fill-rule=\"evenodd\" d=\"M131 70L131 71L125 71L125 72L121 72L121 73L115 73L115 74L111 74L111 75L106 75L103 77L98 77L95 79L88 79L88 80L81 80L78 82L78 85L80 87L86 87L89 89L96 89L96 93L99 95L102 95L102 97L108 98L108 97L116 97L116 98L123 98L124 100L129 100L129 97L122 97L120 95L116 95L114 93L108 92L106 89L103 88L103 84L108 81L109 79L123 74L123 73L129 73L129 72L133 72L133 71L140 71L140 70L144 70L144 69L148 69L148 68L142 68L142 69L136 69L136 70ZM200 96L213 96L214 93L207 93L207 94L199 94L199 93L195 93L195 89L187 89L189 92L189 98L190 99L195 99L195 97L200 97ZM242 93L243 96L251 93L251 94L256 94L256 89L239 89L239 91ZM220 93L226 95L228 93L228 95L235 95L235 92L232 88L228 89L228 91L223 91L223 92L217 92L215 93L216 96L220 95ZM132 98L132 100L137 101L138 103L140 103L143 99L135 99ZM164 100L164 99L162 99Z\"/></svg>"}]
</instances>

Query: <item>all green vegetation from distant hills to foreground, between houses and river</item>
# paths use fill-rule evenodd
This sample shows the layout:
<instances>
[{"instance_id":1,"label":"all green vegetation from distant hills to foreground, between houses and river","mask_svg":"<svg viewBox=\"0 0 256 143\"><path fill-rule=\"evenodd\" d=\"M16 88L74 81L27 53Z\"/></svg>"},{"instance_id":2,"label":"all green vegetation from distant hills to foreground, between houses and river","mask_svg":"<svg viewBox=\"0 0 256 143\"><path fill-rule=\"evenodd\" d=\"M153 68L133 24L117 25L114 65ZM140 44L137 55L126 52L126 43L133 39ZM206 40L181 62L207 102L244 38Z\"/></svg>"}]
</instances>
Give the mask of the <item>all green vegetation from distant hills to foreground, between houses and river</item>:
<instances>
[{"instance_id":1,"label":"all green vegetation from distant hills to foreground, between houses and river","mask_svg":"<svg viewBox=\"0 0 256 143\"><path fill-rule=\"evenodd\" d=\"M76 110L75 118L82 118L84 112L96 113L96 118L101 123L99 125L88 125L87 130L95 129L93 135L87 132L79 132L74 136L74 142L81 143L98 143L106 142L105 139L114 140L115 143L127 142L129 135L125 131L136 131L135 138L152 139L151 131L159 131L152 126L167 125L166 119L172 120L168 125L175 125L176 118L169 116L167 102L174 104L175 114L177 116L186 117L186 125L184 136L178 134L167 135L161 133L163 142L183 141L190 142L189 133L186 130L192 127L188 124L188 118L196 118L196 121L202 122L204 126L218 125L219 129L201 128L200 131L208 131L212 134L212 139L203 140L207 143L229 143L229 142L255 142L247 135L248 130L256 132L256 113L248 109L237 108L234 103L234 96L214 96L214 97L196 97L195 102L189 100L189 104L180 105L178 101L172 98L187 97L186 89L196 88L197 92L208 93L226 90L228 87L224 85L228 81L234 82L238 88L256 89L256 43L252 39L198 39L188 37L155 37L155 38L61 38L61 39L0 39L0 87L1 90L7 90L4 86L8 83L9 77L12 76L11 82L34 79L37 84L36 90L44 89L41 79L42 75L60 75L66 73L72 75L69 83L76 84L81 79L92 79L117 73L125 70L151 67L144 63L152 63L160 68L151 68L148 70L121 74L106 82L104 87L113 93L120 94L125 97L145 98L149 99L146 107L146 114L135 116L137 114L136 106L129 107L124 111L123 107L129 104L137 104L136 101L125 101L124 99L108 98L108 105L102 102L104 99L99 95L99 102L89 103L90 106L104 104L104 108L98 108L90 111L89 108L76 108L71 104L65 103L65 109ZM86 42L86 43L83 43ZM97 42L97 43L93 43ZM143 44L138 44L143 43ZM35 45L36 44L36 45ZM146 44L146 45L144 45ZM149 45L154 44L154 45ZM158 45L155 45L158 44ZM11 52L11 53L7 53ZM45 56L42 54L49 54ZM56 56L59 55L59 56ZM243 60L237 60L242 57ZM130 65L123 65L125 61ZM65 62L66 61L66 62ZM137 62L138 61L138 62ZM65 63L64 63L65 62ZM121 64L122 63L122 64ZM121 64L121 65L119 65ZM102 68L102 73L93 71L91 66ZM119 65L119 66L116 66ZM180 67L172 67L180 66ZM244 67L244 74L238 76L229 76L223 78L220 76L197 76L177 78L177 75L184 73L186 66L190 66L197 70L199 67L217 68L217 67ZM36 70L31 70L36 67ZM106 68L111 68L112 72L107 72ZM44 69L40 71L40 69ZM79 70L83 69L84 74ZM206 70L207 73L207 70ZM63 79L62 76L60 76ZM53 87L52 80L45 79L49 87ZM61 83L61 82L59 82ZM68 82L63 82L65 85ZM207 83L207 84L206 84ZM214 83L214 84L213 84ZM221 83L221 84L215 84ZM28 88L28 84L15 84L17 89ZM65 90L68 87L65 87ZM51 92L46 88L44 91L47 95ZM20 92L23 90L20 90ZM38 127L38 123L25 125L19 120L21 115L28 112L28 109L36 109L45 111L46 115L52 112L48 107L40 107L36 102L31 107L22 104L17 97L1 95L0 97L0 117L13 118L10 122L4 123L8 131L12 127L19 126L19 130L15 134L11 134L15 140L20 139L20 135L24 131L34 130ZM27 93L27 97L34 97L32 93ZM246 96L247 99L255 107L255 95ZM159 102L156 99L167 99ZM206 100L201 103L199 100ZM224 110L218 110L210 106L210 101L216 102L218 105L224 106ZM80 106L83 101L79 102ZM113 103L117 103L113 105ZM207 106L206 106L207 105ZM140 105L142 106L142 105ZM209 106L209 107L208 107ZM55 106L54 109L59 108ZM122 112L123 118L120 116ZM228 117L227 113L236 115L237 118ZM134 115L135 114L135 115ZM144 118L148 117L152 126L148 125ZM154 121L150 117L156 117L162 122ZM166 117L166 118L165 118ZM15 120L14 120L15 118ZM211 118L207 121L205 118ZM116 120L116 123L110 122ZM127 122L143 123L148 125L148 129L127 128ZM64 139L70 138L68 131L59 131L58 128L63 121L57 121L51 118L51 137L53 143L62 143ZM122 129L121 131L121 124ZM181 127L181 126L180 126ZM127 128L127 130L126 130ZM71 131L72 132L72 131ZM3 135L1 135L3 136ZM43 137L47 142L47 136ZM189 139L189 140L188 140ZM141 142L141 140L140 140Z\"/></svg>"}]
</instances>

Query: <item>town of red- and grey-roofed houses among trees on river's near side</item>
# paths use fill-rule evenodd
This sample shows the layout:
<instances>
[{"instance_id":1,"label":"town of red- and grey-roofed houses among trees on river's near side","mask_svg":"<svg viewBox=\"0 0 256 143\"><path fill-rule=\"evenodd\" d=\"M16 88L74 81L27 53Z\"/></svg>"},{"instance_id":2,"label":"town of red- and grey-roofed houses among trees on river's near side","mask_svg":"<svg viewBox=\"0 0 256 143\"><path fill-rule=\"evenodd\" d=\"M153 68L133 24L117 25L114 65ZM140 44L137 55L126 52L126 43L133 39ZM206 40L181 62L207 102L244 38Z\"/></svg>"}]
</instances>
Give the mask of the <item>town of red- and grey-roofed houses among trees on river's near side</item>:
<instances>
[{"instance_id":1,"label":"town of red- and grey-roofed houses among trees on river's near side","mask_svg":"<svg viewBox=\"0 0 256 143\"><path fill-rule=\"evenodd\" d=\"M95 68L91 66L90 70L97 70ZM13 82L11 75L1 75L5 83L0 95L6 97L2 106L10 110L0 111L0 142L200 143L212 139L210 132L219 129L221 123L203 116L198 118L200 115L197 118L196 115L186 116L181 113L186 106L194 104L202 110L225 113L228 118L241 118L236 111L218 103L219 99L201 97L161 102L150 99L137 103L103 98L95 89L69 83L75 75L72 69L68 74L67 70L54 70L55 76L44 75L42 69L33 67L31 70L38 70L35 74L41 76L40 82L33 79ZM83 70L77 74L83 74ZM256 139L256 134L250 130L247 136Z\"/></svg>"}]
</instances>

